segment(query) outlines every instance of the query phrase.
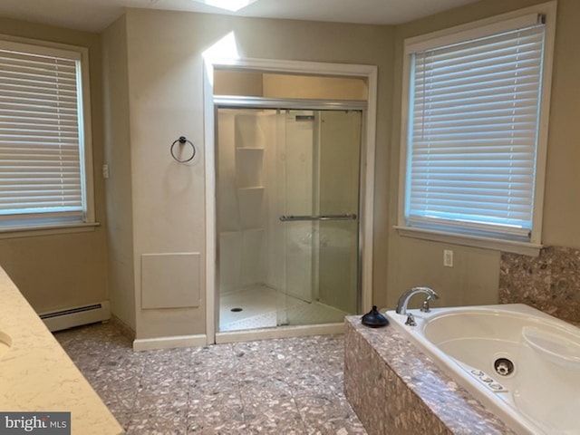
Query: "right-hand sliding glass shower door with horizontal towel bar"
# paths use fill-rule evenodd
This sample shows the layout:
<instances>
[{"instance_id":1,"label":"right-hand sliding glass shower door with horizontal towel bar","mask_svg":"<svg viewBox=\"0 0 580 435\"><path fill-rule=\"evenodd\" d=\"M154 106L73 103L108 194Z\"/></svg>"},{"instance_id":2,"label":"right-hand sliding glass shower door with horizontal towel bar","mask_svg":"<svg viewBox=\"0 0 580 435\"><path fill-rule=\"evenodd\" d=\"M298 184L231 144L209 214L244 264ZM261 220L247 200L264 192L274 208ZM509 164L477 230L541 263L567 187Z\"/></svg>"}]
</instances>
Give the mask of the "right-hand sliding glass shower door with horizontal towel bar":
<instances>
[{"instance_id":1,"label":"right-hand sliding glass shower door with horizontal towel bar","mask_svg":"<svg viewBox=\"0 0 580 435\"><path fill-rule=\"evenodd\" d=\"M282 121L285 292L277 324L343 322L359 295L361 112L287 111Z\"/></svg>"}]
</instances>

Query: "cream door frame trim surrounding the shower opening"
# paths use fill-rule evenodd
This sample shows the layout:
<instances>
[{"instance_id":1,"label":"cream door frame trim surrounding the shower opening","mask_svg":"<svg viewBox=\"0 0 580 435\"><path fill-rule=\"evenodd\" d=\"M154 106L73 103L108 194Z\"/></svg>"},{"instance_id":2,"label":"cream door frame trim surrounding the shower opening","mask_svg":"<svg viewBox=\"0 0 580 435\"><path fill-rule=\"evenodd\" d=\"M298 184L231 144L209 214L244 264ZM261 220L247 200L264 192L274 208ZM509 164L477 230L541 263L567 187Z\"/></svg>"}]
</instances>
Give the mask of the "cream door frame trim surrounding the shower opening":
<instances>
[{"instance_id":1,"label":"cream door frame trim surrounding the shower opening","mask_svg":"<svg viewBox=\"0 0 580 435\"><path fill-rule=\"evenodd\" d=\"M355 77L365 79L368 86L367 104L362 126L362 174L360 204L359 257L361 274L361 307L372 304L372 240L374 206L374 160L376 143L377 80L376 65L349 63L318 63L303 61L281 61L272 59L204 59L204 135L206 173L206 339L217 343L216 319L219 304L216 300L218 285L218 226L216 221L216 117L214 108L214 71L216 69L247 70L260 73L308 74L326 77ZM308 325L287 330L279 335L306 335L320 333L320 325ZM277 328L276 328L277 329ZM251 336L256 333L250 333ZM278 336L268 331L267 338ZM247 340L248 335L239 336ZM237 338L232 336L231 340Z\"/></svg>"}]
</instances>

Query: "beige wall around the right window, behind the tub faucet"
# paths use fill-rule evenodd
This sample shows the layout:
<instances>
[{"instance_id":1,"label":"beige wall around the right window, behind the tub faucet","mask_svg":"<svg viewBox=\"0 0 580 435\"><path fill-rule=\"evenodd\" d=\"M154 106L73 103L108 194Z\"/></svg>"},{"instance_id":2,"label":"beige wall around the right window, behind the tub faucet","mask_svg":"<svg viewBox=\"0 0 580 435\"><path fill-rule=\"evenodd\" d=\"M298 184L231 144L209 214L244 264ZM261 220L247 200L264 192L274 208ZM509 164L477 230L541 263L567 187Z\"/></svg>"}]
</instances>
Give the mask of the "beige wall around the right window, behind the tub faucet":
<instances>
[{"instance_id":1,"label":"beige wall around the right window, behind the tub faucet","mask_svg":"<svg viewBox=\"0 0 580 435\"><path fill-rule=\"evenodd\" d=\"M495 14L544 3L536 0L484 0L396 27L393 129L390 161L388 304L411 285L432 285L440 304L497 303L499 253L399 237L397 219L401 123L401 67L404 38L469 23ZM545 245L580 247L580 3L559 0L556 57L548 139L543 241ZM455 251L455 266L443 267L443 249ZM379 278L381 279L381 278ZM477 289L477 292L475 290Z\"/></svg>"}]
</instances>

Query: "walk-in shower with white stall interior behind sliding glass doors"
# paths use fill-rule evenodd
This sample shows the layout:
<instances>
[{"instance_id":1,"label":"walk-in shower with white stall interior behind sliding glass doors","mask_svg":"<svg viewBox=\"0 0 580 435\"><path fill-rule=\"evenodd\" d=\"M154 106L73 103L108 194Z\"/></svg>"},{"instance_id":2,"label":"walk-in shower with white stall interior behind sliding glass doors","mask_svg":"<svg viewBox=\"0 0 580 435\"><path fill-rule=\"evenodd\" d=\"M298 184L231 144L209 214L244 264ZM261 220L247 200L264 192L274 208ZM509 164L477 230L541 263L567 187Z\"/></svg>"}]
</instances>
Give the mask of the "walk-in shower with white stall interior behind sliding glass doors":
<instances>
[{"instance_id":1,"label":"walk-in shower with white stall interior behind sliding glass doors","mask_svg":"<svg viewBox=\"0 0 580 435\"><path fill-rule=\"evenodd\" d=\"M217 102L216 121L218 331L357 313L362 111Z\"/></svg>"}]
</instances>

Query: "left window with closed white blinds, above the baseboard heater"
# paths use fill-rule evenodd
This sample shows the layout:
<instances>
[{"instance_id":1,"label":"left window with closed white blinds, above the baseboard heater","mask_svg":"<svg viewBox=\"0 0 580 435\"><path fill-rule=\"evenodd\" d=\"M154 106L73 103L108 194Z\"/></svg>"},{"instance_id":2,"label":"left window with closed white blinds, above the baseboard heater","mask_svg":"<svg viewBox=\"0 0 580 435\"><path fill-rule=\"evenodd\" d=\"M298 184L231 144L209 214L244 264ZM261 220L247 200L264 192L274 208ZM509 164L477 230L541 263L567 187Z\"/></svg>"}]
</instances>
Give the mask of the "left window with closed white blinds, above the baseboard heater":
<instances>
[{"instance_id":1,"label":"left window with closed white blinds, above the baseboard heater","mask_svg":"<svg viewBox=\"0 0 580 435\"><path fill-rule=\"evenodd\" d=\"M0 41L0 230L94 221L85 51Z\"/></svg>"}]
</instances>

